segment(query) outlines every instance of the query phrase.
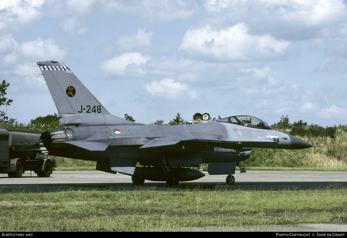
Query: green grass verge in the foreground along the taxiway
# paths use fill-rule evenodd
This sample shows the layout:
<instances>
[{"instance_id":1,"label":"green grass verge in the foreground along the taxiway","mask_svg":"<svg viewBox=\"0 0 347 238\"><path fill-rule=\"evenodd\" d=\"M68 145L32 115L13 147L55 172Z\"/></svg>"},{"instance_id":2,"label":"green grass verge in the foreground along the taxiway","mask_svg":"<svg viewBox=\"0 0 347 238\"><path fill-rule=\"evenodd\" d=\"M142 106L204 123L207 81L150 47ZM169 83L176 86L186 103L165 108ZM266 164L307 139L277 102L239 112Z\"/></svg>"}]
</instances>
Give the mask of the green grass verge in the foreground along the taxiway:
<instances>
[{"instance_id":1,"label":"green grass verge in the foreground along the taxiway","mask_svg":"<svg viewBox=\"0 0 347 238\"><path fill-rule=\"evenodd\" d=\"M347 190L0 193L3 231L168 231L347 223Z\"/></svg>"}]
</instances>

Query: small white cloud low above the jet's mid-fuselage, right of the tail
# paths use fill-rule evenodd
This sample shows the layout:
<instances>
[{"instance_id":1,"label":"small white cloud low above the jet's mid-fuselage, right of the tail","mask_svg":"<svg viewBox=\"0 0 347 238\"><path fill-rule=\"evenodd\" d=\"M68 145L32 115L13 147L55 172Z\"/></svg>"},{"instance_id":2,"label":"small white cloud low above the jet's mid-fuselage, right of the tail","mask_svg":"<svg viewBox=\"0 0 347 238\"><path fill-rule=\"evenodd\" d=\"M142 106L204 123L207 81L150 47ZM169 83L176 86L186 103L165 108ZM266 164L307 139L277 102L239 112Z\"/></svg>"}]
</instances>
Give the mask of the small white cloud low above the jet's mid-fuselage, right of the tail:
<instances>
[{"instance_id":1,"label":"small white cloud low above the jet's mid-fuselage, right of the tail","mask_svg":"<svg viewBox=\"0 0 347 238\"><path fill-rule=\"evenodd\" d=\"M154 97L158 96L168 99L180 99L186 97L189 97L190 99L198 98L195 90L189 90L186 84L175 82L173 79L162 79L160 82L153 81L150 84L145 84L143 88Z\"/></svg>"}]
</instances>

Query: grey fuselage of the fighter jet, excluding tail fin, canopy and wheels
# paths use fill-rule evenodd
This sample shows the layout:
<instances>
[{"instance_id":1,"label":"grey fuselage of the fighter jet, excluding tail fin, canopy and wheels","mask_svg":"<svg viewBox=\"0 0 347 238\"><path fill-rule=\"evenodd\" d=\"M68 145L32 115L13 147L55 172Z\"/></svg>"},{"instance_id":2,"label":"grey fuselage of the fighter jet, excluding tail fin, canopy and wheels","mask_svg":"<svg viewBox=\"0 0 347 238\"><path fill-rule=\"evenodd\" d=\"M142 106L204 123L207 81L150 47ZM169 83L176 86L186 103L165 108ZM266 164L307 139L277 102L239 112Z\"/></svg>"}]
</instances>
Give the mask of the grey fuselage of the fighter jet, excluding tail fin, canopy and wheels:
<instances>
[{"instance_id":1,"label":"grey fuselage of the fighter jet, excluding tail fin, canopy and wheels","mask_svg":"<svg viewBox=\"0 0 347 238\"><path fill-rule=\"evenodd\" d=\"M243 161L249 157L250 150L248 156L247 153L231 156L235 154L235 150L243 148L292 149L297 146L293 145L292 136L286 133L216 121L175 126L116 125L69 129L71 132L67 134L70 136L65 140L53 140L52 143L47 136L56 131L43 134L42 140L50 148L50 155L93 161L99 158L124 158L148 162L174 154L197 152L204 163L210 163ZM66 130L68 129L57 131ZM146 147L150 141L155 143ZM98 143L104 147L98 148Z\"/></svg>"}]
</instances>

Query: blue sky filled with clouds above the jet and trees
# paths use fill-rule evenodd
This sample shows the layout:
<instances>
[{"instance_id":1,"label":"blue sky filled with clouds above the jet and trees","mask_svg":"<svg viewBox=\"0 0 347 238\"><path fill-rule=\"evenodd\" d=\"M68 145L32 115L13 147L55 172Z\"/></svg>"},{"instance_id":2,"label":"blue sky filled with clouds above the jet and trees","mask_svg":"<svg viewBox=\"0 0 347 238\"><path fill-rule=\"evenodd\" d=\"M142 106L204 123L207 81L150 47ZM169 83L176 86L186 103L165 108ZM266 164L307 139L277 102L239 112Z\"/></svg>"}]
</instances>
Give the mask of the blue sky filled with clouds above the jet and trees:
<instances>
[{"instance_id":1,"label":"blue sky filled with clouds above the jet and trees","mask_svg":"<svg viewBox=\"0 0 347 238\"><path fill-rule=\"evenodd\" d=\"M36 65L54 60L138 123L347 124L342 0L1 0L0 58L7 116L23 123L58 113Z\"/></svg>"}]
</instances>

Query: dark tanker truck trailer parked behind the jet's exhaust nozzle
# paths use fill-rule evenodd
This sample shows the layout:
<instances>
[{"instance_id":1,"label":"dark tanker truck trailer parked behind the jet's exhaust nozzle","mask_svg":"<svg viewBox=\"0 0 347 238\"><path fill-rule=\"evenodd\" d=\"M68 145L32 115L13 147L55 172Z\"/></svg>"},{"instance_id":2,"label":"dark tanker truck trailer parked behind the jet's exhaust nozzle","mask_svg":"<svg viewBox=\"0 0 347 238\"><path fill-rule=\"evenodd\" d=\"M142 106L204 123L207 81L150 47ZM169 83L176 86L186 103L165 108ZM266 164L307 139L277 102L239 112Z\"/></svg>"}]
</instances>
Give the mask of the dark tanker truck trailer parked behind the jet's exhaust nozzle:
<instances>
[{"instance_id":1,"label":"dark tanker truck trailer parked behind the jet's exhaust nozzle","mask_svg":"<svg viewBox=\"0 0 347 238\"><path fill-rule=\"evenodd\" d=\"M0 128L0 173L20 178L25 171L33 171L38 177L50 177L56 161L45 158L39 149L26 149L39 143L41 134Z\"/></svg>"}]
</instances>

